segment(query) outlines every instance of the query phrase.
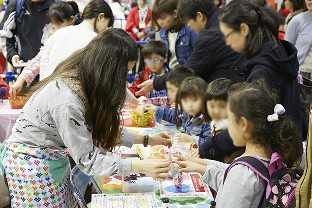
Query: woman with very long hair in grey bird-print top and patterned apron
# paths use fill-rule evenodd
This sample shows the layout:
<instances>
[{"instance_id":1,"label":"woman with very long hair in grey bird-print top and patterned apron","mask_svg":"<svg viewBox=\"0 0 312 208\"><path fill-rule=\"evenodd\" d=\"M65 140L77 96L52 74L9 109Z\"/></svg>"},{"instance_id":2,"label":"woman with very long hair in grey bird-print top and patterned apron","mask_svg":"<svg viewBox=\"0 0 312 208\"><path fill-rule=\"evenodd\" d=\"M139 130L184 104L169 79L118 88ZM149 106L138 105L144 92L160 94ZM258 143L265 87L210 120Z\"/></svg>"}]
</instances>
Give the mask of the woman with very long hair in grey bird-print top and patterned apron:
<instances>
[{"instance_id":1,"label":"woman with very long hair in grey bird-print top and patterned apron","mask_svg":"<svg viewBox=\"0 0 312 208\"><path fill-rule=\"evenodd\" d=\"M62 61L51 76L32 88L5 145L12 207L30 202L36 207L44 203L39 199L46 197L55 200L54 206L70 207L68 156L87 175L140 172L159 180L166 178L170 161L132 161L112 154L117 145L171 144L167 134L135 134L120 126L127 72L137 58L131 37L124 30L110 29ZM20 176L23 180L16 192ZM26 192L30 193L27 201L23 200Z\"/></svg>"}]
</instances>

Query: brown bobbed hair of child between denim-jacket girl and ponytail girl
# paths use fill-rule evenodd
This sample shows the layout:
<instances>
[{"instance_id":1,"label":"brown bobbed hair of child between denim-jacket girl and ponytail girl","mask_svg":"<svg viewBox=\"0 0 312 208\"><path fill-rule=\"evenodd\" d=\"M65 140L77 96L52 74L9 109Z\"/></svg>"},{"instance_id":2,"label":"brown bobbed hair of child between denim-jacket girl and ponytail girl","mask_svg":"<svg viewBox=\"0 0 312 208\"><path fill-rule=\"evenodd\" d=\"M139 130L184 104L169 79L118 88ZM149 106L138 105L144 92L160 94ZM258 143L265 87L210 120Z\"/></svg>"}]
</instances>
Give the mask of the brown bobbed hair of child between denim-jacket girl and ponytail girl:
<instances>
[{"instance_id":1,"label":"brown bobbed hair of child between denim-jacket girl and ponytail girl","mask_svg":"<svg viewBox=\"0 0 312 208\"><path fill-rule=\"evenodd\" d=\"M205 92L204 96L204 121L211 122L209 112L207 109L207 102L213 99L227 101L228 99L228 90L233 85L233 82L226 78L220 78L212 81Z\"/></svg>"}]
</instances>

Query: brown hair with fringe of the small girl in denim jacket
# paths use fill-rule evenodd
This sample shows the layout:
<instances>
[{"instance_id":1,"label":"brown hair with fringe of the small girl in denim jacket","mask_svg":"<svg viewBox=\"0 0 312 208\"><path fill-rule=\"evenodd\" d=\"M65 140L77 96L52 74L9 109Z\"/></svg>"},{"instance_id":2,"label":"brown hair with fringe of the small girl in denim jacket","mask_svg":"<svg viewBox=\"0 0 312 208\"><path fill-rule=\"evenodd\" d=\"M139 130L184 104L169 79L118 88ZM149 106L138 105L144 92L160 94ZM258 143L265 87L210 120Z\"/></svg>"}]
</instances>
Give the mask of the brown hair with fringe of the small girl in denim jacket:
<instances>
[{"instance_id":1,"label":"brown hair with fringe of the small girl in denim jacket","mask_svg":"<svg viewBox=\"0 0 312 208\"><path fill-rule=\"evenodd\" d=\"M186 78L182 84L179 87L179 90L177 92L176 97L176 105L175 105L175 121L177 128L180 126L181 118L179 118L179 114L181 114L181 110L179 109L179 105L182 106L181 100L188 97L188 96L194 96L194 97L200 97L204 101L204 94L207 87L207 83L204 79L200 77L188 77ZM203 107L204 108L204 107ZM200 113L196 115L196 118L203 114L203 109ZM200 125L203 123L203 119L197 119L195 122L192 123L192 125Z\"/></svg>"}]
</instances>

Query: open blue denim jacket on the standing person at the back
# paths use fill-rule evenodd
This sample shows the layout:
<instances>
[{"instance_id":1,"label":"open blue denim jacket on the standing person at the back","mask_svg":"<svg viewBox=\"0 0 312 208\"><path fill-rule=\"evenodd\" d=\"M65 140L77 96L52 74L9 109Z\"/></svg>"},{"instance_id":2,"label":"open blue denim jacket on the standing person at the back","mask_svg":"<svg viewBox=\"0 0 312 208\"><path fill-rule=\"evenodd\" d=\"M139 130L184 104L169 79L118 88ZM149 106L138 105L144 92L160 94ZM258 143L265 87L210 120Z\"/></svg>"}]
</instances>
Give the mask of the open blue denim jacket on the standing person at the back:
<instances>
[{"instance_id":1,"label":"open blue denim jacket on the standing person at the back","mask_svg":"<svg viewBox=\"0 0 312 208\"><path fill-rule=\"evenodd\" d=\"M167 53L169 51L168 30L161 29L159 31L160 40L166 44ZM191 56L193 51L194 39L197 33L189 28L186 24L178 31L178 37L175 42L175 54L181 66L186 63L186 60Z\"/></svg>"}]
</instances>

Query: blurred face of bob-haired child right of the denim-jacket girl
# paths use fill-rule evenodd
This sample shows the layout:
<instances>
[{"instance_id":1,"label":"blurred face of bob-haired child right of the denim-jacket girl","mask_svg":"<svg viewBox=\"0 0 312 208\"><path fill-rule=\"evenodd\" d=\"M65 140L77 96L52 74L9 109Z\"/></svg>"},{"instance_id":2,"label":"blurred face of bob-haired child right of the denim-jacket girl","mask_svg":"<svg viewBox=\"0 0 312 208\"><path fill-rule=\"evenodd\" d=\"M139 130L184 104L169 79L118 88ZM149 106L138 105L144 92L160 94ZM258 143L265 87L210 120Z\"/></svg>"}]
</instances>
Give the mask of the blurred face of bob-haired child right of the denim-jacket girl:
<instances>
[{"instance_id":1,"label":"blurred face of bob-haired child right of the denim-jacket girl","mask_svg":"<svg viewBox=\"0 0 312 208\"><path fill-rule=\"evenodd\" d=\"M207 102L207 109L210 118L216 122L227 118L227 102L224 100L215 100Z\"/></svg>"}]
</instances>

